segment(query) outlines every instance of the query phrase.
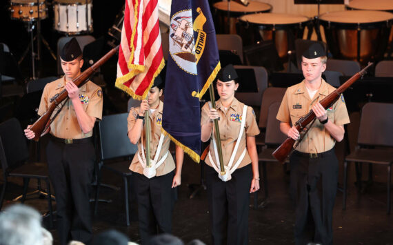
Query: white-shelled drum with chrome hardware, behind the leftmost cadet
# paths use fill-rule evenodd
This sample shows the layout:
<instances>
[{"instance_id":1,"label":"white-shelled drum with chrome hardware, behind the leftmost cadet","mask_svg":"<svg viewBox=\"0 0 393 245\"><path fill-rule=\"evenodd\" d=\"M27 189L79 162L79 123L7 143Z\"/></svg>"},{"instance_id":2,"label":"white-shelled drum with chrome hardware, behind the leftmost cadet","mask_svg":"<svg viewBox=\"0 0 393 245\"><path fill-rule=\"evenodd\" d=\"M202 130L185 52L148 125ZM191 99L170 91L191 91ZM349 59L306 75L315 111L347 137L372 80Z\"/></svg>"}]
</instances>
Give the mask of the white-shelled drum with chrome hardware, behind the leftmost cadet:
<instances>
[{"instance_id":1,"label":"white-shelled drum with chrome hardware, behind the leftmost cadet","mask_svg":"<svg viewBox=\"0 0 393 245\"><path fill-rule=\"evenodd\" d=\"M54 29L68 35L78 35L93 31L92 0L55 0Z\"/></svg>"}]
</instances>

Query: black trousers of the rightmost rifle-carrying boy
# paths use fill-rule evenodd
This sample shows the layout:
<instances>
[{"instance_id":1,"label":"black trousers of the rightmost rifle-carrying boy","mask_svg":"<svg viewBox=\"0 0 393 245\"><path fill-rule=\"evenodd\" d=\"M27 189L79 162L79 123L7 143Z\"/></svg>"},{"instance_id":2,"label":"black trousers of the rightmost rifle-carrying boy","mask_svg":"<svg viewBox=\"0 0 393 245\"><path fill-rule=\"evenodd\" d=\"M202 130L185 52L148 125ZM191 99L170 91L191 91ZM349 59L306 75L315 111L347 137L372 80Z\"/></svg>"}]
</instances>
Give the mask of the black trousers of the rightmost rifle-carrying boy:
<instances>
[{"instance_id":1,"label":"black trousers of the rightmost rifle-carrying boy","mask_svg":"<svg viewBox=\"0 0 393 245\"><path fill-rule=\"evenodd\" d=\"M339 161L334 148L312 157L296 150L290 157L290 192L296 208L296 245L333 243L332 215Z\"/></svg>"}]
</instances>

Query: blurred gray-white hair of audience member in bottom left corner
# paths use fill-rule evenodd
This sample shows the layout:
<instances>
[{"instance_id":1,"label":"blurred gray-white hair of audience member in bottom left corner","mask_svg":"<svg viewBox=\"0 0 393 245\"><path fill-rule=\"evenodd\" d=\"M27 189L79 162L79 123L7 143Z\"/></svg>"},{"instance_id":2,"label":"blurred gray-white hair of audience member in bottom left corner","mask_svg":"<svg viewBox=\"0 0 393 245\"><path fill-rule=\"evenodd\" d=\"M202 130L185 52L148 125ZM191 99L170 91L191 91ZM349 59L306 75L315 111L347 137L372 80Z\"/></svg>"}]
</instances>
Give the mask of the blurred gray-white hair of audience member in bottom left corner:
<instances>
[{"instance_id":1,"label":"blurred gray-white hair of audience member in bottom left corner","mask_svg":"<svg viewBox=\"0 0 393 245\"><path fill-rule=\"evenodd\" d=\"M41 245L41 215L23 204L16 204L0 213L0 245Z\"/></svg>"}]
</instances>

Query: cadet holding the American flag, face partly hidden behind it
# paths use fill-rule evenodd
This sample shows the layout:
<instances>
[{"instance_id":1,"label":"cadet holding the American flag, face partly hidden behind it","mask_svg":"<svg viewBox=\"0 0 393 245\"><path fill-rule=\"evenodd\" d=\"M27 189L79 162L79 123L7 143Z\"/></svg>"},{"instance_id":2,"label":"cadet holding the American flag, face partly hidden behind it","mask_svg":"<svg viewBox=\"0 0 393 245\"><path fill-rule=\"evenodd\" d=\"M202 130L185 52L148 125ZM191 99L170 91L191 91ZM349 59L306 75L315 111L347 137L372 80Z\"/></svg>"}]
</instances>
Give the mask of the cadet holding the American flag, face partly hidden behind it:
<instances>
[{"instance_id":1,"label":"cadet holding the American flag, face partly hidden behind it","mask_svg":"<svg viewBox=\"0 0 393 245\"><path fill-rule=\"evenodd\" d=\"M170 138L161 133L163 102L162 80L158 76L148 92L148 100L131 108L128 115L128 137L138 144L138 153L132 159L130 170L137 178L139 233L142 243L159 233L172 233L173 189L181 184L183 150L176 146L176 170L169 152ZM145 167L145 110L150 110L150 164L154 173Z\"/></svg>"}]
</instances>

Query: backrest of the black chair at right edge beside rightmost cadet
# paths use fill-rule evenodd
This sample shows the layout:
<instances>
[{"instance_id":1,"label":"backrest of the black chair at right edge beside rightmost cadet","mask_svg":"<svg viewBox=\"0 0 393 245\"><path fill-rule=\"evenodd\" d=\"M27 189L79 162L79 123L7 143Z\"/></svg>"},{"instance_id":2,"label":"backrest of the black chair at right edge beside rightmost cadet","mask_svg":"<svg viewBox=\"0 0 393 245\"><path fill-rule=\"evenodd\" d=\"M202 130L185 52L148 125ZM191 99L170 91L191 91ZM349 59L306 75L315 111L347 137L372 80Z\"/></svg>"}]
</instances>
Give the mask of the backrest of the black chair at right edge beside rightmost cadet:
<instances>
[{"instance_id":1,"label":"backrest of the black chair at right edge beside rightmost cadet","mask_svg":"<svg viewBox=\"0 0 393 245\"><path fill-rule=\"evenodd\" d=\"M363 106L359 145L393 147L393 104L370 102Z\"/></svg>"}]
</instances>

